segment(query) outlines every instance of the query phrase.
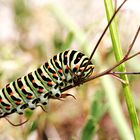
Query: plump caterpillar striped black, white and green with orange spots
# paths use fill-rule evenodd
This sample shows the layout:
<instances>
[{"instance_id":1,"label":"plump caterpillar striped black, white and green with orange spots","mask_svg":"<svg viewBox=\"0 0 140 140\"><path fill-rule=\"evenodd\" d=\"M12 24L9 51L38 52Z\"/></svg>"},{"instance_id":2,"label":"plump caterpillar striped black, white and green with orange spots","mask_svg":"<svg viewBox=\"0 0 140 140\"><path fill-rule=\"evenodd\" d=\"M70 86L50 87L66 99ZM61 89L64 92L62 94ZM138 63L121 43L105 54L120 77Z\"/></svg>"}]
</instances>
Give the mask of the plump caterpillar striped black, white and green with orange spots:
<instances>
[{"instance_id":1,"label":"plump caterpillar striped black, white and green with orange spots","mask_svg":"<svg viewBox=\"0 0 140 140\"><path fill-rule=\"evenodd\" d=\"M39 105L47 105L49 97L60 98L61 89L92 74L92 62L84 69L88 60L79 51L67 50L7 84L0 90L0 118L15 112L21 115L26 108L33 110Z\"/></svg>"}]
</instances>

